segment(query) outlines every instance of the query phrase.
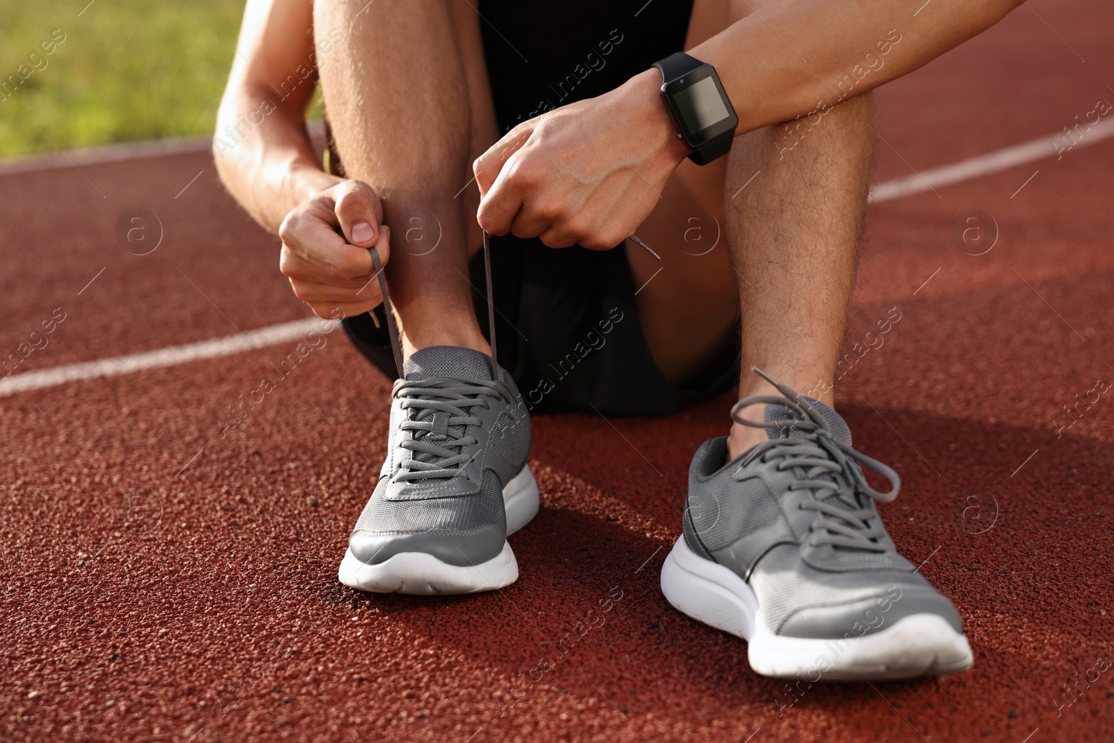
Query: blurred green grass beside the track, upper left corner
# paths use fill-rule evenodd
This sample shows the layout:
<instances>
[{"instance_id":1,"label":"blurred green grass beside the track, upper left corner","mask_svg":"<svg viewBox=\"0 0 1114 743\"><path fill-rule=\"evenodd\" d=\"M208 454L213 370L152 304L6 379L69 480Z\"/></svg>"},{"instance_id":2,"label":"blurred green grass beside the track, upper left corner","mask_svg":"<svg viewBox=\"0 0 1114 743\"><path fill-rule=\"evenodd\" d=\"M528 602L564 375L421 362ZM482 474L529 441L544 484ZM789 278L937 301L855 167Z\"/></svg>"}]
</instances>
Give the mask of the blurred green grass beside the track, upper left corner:
<instances>
[{"instance_id":1,"label":"blurred green grass beside the track, upper left corner","mask_svg":"<svg viewBox=\"0 0 1114 743\"><path fill-rule=\"evenodd\" d=\"M0 0L0 157L212 133L244 0L87 2Z\"/></svg>"}]
</instances>

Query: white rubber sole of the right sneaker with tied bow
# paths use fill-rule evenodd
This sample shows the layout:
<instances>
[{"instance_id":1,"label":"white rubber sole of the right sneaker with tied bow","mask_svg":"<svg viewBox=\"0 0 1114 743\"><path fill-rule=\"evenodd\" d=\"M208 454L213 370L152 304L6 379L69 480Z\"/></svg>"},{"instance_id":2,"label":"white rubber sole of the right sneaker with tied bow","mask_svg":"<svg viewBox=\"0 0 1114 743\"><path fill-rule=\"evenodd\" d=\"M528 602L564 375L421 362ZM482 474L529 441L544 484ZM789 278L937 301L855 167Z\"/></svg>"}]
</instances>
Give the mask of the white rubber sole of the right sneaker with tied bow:
<instances>
[{"instance_id":1,"label":"white rubber sole of the right sneaker with tied bow","mask_svg":"<svg viewBox=\"0 0 1114 743\"><path fill-rule=\"evenodd\" d=\"M967 638L935 614L912 614L846 639L774 635L746 581L693 553L684 537L662 566L662 593L683 614L747 641L751 667L763 676L874 681L958 673L974 665Z\"/></svg>"}]
</instances>

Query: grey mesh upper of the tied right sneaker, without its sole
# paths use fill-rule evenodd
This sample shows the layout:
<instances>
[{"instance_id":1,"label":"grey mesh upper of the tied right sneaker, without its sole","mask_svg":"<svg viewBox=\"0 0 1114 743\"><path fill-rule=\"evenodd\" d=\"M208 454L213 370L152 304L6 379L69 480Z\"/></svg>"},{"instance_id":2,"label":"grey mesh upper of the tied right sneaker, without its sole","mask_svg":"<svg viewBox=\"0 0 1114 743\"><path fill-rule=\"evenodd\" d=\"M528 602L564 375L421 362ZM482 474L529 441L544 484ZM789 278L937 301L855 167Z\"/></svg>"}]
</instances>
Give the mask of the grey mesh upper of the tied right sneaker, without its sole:
<instances>
[{"instance_id":1,"label":"grey mesh upper of the tied right sneaker, without its sole","mask_svg":"<svg viewBox=\"0 0 1114 743\"><path fill-rule=\"evenodd\" d=\"M784 391L793 399L755 399L770 403L765 421L750 423L768 429L766 442L726 465L726 438L697 450L684 517L690 549L745 579L775 634L863 635L919 613L961 632L958 612L897 554L874 508L897 496L897 475L851 448L834 410ZM892 491L870 488L862 465L892 476Z\"/></svg>"}]
</instances>

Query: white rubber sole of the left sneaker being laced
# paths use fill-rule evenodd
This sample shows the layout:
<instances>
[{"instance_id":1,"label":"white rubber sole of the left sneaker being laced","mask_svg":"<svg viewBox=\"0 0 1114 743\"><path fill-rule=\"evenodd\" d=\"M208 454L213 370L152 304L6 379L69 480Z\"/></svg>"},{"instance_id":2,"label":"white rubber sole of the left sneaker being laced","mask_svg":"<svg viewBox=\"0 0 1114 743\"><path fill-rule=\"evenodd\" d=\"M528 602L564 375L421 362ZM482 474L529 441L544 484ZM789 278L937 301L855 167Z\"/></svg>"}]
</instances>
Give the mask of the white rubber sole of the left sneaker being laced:
<instances>
[{"instance_id":1,"label":"white rubber sole of the left sneaker being laced","mask_svg":"<svg viewBox=\"0 0 1114 743\"><path fill-rule=\"evenodd\" d=\"M508 536L537 515L538 483L529 466L502 489L502 502ZM377 594L475 594L518 580L518 560L506 541L491 559L466 567L448 565L426 553L399 553L379 565L368 565L346 550L339 577L345 586Z\"/></svg>"}]
</instances>

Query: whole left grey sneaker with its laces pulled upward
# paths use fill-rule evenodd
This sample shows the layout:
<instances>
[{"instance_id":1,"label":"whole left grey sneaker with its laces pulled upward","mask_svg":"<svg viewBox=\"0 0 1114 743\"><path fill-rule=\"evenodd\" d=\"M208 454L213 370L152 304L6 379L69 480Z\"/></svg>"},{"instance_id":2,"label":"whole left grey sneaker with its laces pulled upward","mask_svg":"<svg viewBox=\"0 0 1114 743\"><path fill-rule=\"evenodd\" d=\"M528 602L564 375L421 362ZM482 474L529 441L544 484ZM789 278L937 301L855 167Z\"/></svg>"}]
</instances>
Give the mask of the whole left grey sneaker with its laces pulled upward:
<instances>
[{"instance_id":1,"label":"whole left grey sneaker with its laces pulled upward","mask_svg":"<svg viewBox=\"0 0 1114 743\"><path fill-rule=\"evenodd\" d=\"M508 586L518 579L518 563L507 535L538 512L538 486L526 465L529 413L514 379L494 361L494 334L491 356L441 345L401 362L374 251L372 257L401 379L394 382L387 459L349 538L340 580L403 594Z\"/></svg>"}]
</instances>

